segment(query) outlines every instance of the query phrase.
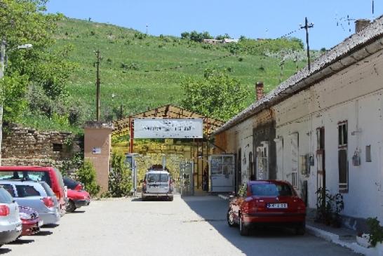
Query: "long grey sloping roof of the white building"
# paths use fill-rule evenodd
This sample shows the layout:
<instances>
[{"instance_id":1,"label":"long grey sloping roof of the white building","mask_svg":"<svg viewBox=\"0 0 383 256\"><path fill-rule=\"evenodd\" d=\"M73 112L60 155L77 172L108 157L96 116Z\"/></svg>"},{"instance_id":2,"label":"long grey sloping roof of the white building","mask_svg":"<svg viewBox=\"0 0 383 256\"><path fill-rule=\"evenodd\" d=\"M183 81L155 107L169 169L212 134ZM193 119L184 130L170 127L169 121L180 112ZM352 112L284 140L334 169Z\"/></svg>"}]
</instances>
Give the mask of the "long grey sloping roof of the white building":
<instances>
[{"instance_id":1,"label":"long grey sloping roof of the white building","mask_svg":"<svg viewBox=\"0 0 383 256\"><path fill-rule=\"evenodd\" d=\"M337 46L332 47L326 53L321 55L311 64L311 70L309 71L308 67L304 67L299 72L290 76L286 81L279 84L277 88L272 90L270 93L265 95L262 100L254 102L252 105L244 109L242 112L234 116L232 119L224 123L223 126L218 128L213 135L217 133L222 133L224 130L227 130L237 123L248 119L250 116L257 114L266 107L271 107L275 105L280 100L289 97L289 94L293 93L296 90L302 90L302 88L296 88L304 80L310 79L314 76L316 81L323 79L328 76L328 73L320 74L325 67L332 65L335 62L348 57L350 53L353 53L363 46L368 46L370 43L373 43L377 39L381 39L383 36L383 15L374 20L368 27L365 27L360 32L352 34L347 39L344 39L342 43L337 44ZM318 77L315 77L318 76ZM312 82L307 83L306 87L311 86ZM292 92L288 93L289 90Z\"/></svg>"}]
</instances>

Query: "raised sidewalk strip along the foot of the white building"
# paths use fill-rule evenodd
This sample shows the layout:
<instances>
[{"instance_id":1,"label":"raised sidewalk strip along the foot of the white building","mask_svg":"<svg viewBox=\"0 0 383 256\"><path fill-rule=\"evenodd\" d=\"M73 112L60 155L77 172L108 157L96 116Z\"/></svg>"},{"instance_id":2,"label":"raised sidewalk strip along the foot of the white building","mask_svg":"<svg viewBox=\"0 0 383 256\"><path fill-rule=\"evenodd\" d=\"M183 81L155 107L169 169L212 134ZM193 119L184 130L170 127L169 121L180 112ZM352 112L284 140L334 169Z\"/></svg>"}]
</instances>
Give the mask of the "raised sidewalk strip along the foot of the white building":
<instances>
[{"instance_id":1,"label":"raised sidewalk strip along the foot of the white building","mask_svg":"<svg viewBox=\"0 0 383 256\"><path fill-rule=\"evenodd\" d=\"M229 200L229 195L227 194L218 194L220 198L224 200ZM318 236L330 241L337 245L349 248L354 252L361 253L367 256L383 256L382 246L377 246L375 248L365 248L358 243L356 243L356 231L346 228L335 228L326 226L322 223L316 223L314 220L307 217L306 219L306 231L308 234Z\"/></svg>"}]
</instances>

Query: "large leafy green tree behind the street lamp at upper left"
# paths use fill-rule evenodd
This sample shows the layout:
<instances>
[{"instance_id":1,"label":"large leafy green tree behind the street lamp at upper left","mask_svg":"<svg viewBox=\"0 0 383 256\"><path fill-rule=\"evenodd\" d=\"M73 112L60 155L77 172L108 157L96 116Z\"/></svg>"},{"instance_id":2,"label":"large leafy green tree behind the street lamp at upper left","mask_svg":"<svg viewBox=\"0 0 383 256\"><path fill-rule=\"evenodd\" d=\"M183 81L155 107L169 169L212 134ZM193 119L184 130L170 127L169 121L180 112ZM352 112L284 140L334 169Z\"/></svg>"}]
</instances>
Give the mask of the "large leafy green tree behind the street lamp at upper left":
<instances>
[{"instance_id":1,"label":"large leafy green tree behind the street lamp at upper left","mask_svg":"<svg viewBox=\"0 0 383 256\"><path fill-rule=\"evenodd\" d=\"M67 61L72 49L51 50L55 42L53 32L60 14L46 14L47 0L0 1L0 39L6 39L8 63L4 79L0 81L1 101L4 105L4 121L17 122L27 107L28 86L37 86L51 100L49 111L38 109L47 116L55 110L56 101L67 104L65 84L74 66ZM32 49L19 49L19 45L31 43ZM9 89L11 88L11 89ZM30 102L29 102L30 103ZM31 109L35 112L36 109ZM57 114L62 114L58 112Z\"/></svg>"}]
</instances>

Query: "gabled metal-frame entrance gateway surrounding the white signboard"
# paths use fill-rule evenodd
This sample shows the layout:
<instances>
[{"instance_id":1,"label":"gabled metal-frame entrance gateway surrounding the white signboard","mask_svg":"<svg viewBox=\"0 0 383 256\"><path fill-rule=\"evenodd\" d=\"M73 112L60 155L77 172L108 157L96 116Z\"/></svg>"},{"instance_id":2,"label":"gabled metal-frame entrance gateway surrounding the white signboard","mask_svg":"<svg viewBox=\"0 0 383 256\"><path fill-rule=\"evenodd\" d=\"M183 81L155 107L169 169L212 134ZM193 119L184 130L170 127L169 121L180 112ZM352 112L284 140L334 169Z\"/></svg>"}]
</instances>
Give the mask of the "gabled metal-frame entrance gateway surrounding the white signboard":
<instances>
[{"instance_id":1,"label":"gabled metal-frame entrance gateway surrounding the white signboard","mask_svg":"<svg viewBox=\"0 0 383 256\"><path fill-rule=\"evenodd\" d=\"M201 119L202 136L201 137L179 137L161 139L136 139L135 138L135 120L137 119ZM137 153L138 180L142 180L147 168L152 164L161 164L165 158L166 165L170 169L178 186L184 178L180 172L184 166L192 165L193 180L195 191L202 191L204 180L208 176L203 175L204 170L208 169L208 156L212 153L212 147L208 142L208 137L217 128L222 126L223 122L203 116L196 112L190 112L187 109L166 105L149 109L146 112L134 114L124 119L114 121L114 130L112 132L112 148L120 149L126 154ZM119 139L121 138L121 139ZM188 169L189 170L189 169ZM186 176L185 176L186 177ZM140 186L137 186L138 188ZM205 186L206 188L206 186Z\"/></svg>"}]
</instances>

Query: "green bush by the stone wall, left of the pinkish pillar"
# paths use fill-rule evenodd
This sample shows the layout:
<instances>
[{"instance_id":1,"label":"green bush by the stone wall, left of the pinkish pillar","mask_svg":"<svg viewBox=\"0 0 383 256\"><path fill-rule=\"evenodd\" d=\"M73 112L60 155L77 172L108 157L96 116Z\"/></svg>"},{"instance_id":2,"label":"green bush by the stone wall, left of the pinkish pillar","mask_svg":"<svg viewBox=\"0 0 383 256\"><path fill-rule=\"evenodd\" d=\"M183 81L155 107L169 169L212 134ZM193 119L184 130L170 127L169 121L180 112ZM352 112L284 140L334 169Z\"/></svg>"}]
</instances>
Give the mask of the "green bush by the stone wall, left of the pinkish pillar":
<instances>
[{"instance_id":1,"label":"green bush by the stone wall, left of the pinkish pillar","mask_svg":"<svg viewBox=\"0 0 383 256\"><path fill-rule=\"evenodd\" d=\"M83 165L76 172L76 177L84 184L91 196L96 196L100 192L101 187L96 182L95 168L89 160L83 161Z\"/></svg>"}]
</instances>

